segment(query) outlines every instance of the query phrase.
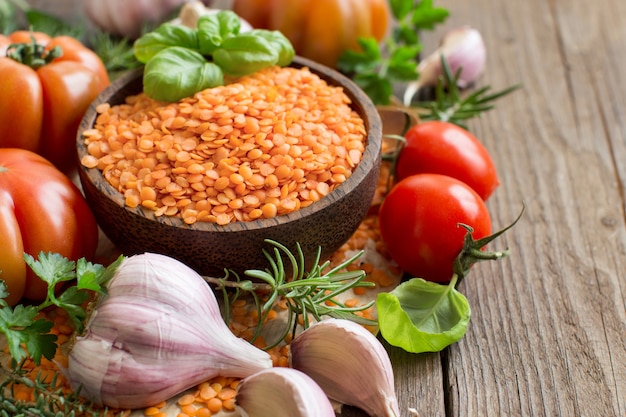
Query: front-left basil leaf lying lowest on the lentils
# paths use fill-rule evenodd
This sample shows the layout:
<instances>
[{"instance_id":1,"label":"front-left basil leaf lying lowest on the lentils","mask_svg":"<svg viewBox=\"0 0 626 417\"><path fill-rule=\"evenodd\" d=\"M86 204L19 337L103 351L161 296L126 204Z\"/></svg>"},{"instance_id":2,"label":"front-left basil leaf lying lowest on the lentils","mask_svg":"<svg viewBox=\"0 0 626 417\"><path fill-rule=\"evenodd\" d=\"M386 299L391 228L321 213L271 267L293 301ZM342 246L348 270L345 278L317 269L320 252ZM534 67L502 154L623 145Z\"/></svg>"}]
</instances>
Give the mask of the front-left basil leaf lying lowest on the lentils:
<instances>
[{"instance_id":1,"label":"front-left basil leaf lying lowest on the lentils","mask_svg":"<svg viewBox=\"0 0 626 417\"><path fill-rule=\"evenodd\" d=\"M154 55L143 74L144 92L159 101L177 101L223 83L224 76L217 65L199 52L177 46Z\"/></svg>"}]
</instances>

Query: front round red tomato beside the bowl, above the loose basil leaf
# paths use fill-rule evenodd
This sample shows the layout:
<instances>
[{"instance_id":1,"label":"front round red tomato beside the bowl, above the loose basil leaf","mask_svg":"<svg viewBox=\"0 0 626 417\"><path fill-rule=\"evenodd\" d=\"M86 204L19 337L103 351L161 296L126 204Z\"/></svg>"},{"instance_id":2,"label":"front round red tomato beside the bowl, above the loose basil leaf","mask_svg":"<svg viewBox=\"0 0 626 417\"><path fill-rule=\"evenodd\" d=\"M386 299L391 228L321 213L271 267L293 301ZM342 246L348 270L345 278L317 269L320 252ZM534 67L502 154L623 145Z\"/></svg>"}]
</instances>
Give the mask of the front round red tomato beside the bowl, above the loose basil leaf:
<instances>
[{"instance_id":1,"label":"front round red tomato beside the bowl, above the loose basil leaf","mask_svg":"<svg viewBox=\"0 0 626 417\"><path fill-rule=\"evenodd\" d=\"M383 200L380 232L391 258L413 277L435 282L452 278L452 264L467 230L491 234L482 198L467 184L440 174L417 174L397 183Z\"/></svg>"}]
</instances>

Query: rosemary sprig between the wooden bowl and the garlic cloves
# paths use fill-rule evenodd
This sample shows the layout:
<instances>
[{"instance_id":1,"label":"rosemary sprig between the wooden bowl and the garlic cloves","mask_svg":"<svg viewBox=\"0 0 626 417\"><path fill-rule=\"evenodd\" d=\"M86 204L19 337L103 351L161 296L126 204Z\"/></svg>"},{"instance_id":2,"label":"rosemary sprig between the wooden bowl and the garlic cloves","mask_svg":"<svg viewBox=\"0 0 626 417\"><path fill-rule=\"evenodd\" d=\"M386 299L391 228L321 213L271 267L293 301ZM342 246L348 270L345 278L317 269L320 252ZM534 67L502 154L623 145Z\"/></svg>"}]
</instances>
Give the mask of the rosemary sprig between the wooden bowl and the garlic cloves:
<instances>
[{"instance_id":1,"label":"rosemary sprig between the wooden bowl and the garlic cloves","mask_svg":"<svg viewBox=\"0 0 626 417\"><path fill-rule=\"evenodd\" d=\"M374 285L372 282L364 281L364 271L348 271L346 269L348 265L362 255L363 251L329 269L330 261L320 262L321 248L318 248L313 267L307 272L304 254L299 244L296 244L297 251L294 254L278 242L273 240L266 240L266 242L274 246L272 253L264 251L270 267L266 270L245 271L247 276L255 278L257 282L240 280L236 274L232 274L234 278L231 278L231 274L224 278L204 277L207 282L216 285L217 289L224 293L226 305L239 296L239 290L244 290L252 295L259 317L253 340L259 336L265 318L280 298L284 299L287 305L287 324L280 336L266 349L281 343L290 332L295 333L299 317L302 317L303 328L307 328L311 324L309 317L319 321L324 316L348 319L364 325L376 324L372 320L355 314L370 308L374 304L374 300L361 306L348 307L337 299L339 294L351 288ZM288 259L291 266L289 273L285 268L283 256ZM233 288L237 292L229 297L227 288ZM261 299L259 293L263 292L267 293L267 296ZM225 314L228 314L228 310L225 308Z\"/></svg>"}]
</instances>

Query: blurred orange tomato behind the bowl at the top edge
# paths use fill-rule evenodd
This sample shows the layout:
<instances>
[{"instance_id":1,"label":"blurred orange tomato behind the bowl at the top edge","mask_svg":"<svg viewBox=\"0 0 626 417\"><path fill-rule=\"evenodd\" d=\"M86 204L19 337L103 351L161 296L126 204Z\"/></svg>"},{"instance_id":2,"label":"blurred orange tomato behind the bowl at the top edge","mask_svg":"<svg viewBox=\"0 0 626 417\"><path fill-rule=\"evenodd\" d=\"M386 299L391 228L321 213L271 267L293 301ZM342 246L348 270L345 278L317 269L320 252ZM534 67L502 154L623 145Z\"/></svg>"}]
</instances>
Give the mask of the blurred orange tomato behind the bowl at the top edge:
<instances>
[{"instance_id":1,"label":"blurred orange tomato behind the bowl at the top edge","mask_svg":"<svg viewBox=\"0 0 626 417\"><path fill-rule=\"evenodd\" d=\"M358 39L382 40L391 12L387 0L235 0L234 11L252 26L282 32L298 55L336 67Z\"/></svg>"}]
</instances>

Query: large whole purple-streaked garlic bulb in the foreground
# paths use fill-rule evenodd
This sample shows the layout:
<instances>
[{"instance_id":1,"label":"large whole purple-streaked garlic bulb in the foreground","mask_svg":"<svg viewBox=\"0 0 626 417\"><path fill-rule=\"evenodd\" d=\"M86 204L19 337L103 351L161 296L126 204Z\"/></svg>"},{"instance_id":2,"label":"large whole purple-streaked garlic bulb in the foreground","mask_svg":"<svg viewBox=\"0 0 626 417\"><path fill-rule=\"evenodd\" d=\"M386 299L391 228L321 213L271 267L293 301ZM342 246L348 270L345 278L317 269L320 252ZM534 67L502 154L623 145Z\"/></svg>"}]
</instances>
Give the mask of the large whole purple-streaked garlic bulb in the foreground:
<instances>
[{"instance_id":1,"label":"large whole purple-streaked garlic bulb in the foreground","mask_svg":"<svg viewBox=\"0 0 626 417\"><path fill-rule=\"evenodd\" d=\"M69 354L72 389L97 405L139 408L218 375L246 377L272 360L233 335L213 291L164 255L122 262Z\"/></svg>"}]
</instances>

